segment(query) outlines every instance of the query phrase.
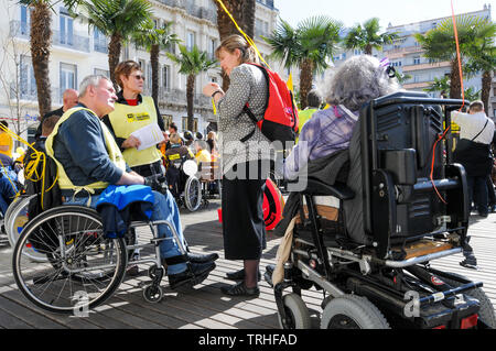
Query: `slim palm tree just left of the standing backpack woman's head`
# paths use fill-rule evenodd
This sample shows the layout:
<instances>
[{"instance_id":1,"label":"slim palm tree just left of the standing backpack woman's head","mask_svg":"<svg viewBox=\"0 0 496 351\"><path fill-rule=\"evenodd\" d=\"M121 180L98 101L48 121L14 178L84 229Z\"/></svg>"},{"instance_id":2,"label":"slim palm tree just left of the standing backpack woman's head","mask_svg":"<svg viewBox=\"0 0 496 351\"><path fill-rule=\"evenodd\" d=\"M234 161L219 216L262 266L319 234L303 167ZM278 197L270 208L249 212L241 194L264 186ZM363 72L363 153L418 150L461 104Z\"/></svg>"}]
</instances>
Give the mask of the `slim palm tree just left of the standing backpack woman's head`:
<instances>
[{"instance_id":1,"label":"slim palm tree just left of the standing backpack woman's head","mask_svg":"<svg viewBox=\"0 0 496 351\"><path fill-rule=\"evenodd\" d=\"M186 81L186 107L187 107L187 129L193 130L193 98L195 91L196 76L202 72L208 70L216 66L217 62L208 58L206 52L201 52L195 45L191 51L186 46L179 45L180 55L166 53L168 57L180 65L180 73L187 76Z\"/></svg>"}]
</instances>

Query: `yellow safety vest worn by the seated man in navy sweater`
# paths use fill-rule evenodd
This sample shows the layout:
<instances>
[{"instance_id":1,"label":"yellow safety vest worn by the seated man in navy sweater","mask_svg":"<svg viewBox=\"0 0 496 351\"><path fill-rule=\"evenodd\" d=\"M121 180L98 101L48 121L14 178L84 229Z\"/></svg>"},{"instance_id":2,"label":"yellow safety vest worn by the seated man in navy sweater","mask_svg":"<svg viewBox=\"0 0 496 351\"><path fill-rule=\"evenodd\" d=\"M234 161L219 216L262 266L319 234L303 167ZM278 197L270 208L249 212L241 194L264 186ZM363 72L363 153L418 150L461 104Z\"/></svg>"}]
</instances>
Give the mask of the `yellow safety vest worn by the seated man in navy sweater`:
<instances>
[{"instance_id":1,"label":"yellow safety vest worn by the seated man in navy sweater","mask_svg":"<svg viewBox=\"0 0 496 351\"><path fill-rule=\"evenodd\" d=\"M61 125L62 122L69 119L74 112L77 112L80 110L86 110L86 111L89 111L90 113L95 114L94 111L83 108L83 107L76 107L76 108L72 108L72 109L67 110L62 116L62 118L58 120L58 122L55 124L53 132L48 135L48 138L46 138L45 149L46 149L46 153L48 154L48 156L51 156L57 165L57 179L58 179L57 182L58 182L58 186L61 189L72 189L72 190L75 190L75 194L79 193L80 190L86 190L89 194L94 194L95 189L107 188L108 183L95 182L95 183L91 183L88 185L83 185L83 186L74 185L73 182L71 182L69 177L67 176L67 174L65 173L64 166L55 158L55 154L53 152L53 140L54 140L55 135L58 133L58 127ZM112 134L108 130L107 125L105 125L105 123L101 122L100 119L96 114L95 114L95 117L100 122L101 130L104 131L105 143L107 144L107 152L110 157L110 161L117 167L119 167L120 169L126 172L126 161L122 156L122 153L120 152L119 146L117 146Z\"/></svg>"}]
</instances>

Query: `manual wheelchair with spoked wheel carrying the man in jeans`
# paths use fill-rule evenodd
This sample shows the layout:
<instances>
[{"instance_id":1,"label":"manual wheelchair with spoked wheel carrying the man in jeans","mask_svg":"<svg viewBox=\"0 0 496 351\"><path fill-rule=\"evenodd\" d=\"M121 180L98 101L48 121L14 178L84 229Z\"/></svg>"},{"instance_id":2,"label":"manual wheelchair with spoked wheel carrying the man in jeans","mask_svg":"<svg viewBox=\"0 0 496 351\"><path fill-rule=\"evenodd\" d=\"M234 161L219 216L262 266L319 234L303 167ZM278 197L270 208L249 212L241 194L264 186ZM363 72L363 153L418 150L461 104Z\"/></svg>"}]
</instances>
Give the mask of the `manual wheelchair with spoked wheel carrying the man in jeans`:
<instances>
[{"instance_id":1,"label":"manual wheelchair with spoked wheel carrying the man in jeans","mask_svg":"<svg viewBox=\"0 0 496 351\"><path fill-rule=\"evenodd\" d=\"M160 185L157 183L154 189L159 190ZM166 226L172 237L159 238L159 226ZM151 238L147 235L140 243L132 238L139 227L151 231ZM19 289L34 305L51 312L75 314L111 297L125 277L131 255L143 249L148 254L132 264L150 265L151 282L142 286L143 298L158 303L163 297L160 284L166 273L159 248L164 240L174 240L181 253L187 253L166 220L131 221L125 238L109 239L104 235L101 217L95 209L58 206L30 218L23 226L12 254L12 273ZM200 284L205 277L195 276L191 283Z\"/></svg>"}]
</instances>

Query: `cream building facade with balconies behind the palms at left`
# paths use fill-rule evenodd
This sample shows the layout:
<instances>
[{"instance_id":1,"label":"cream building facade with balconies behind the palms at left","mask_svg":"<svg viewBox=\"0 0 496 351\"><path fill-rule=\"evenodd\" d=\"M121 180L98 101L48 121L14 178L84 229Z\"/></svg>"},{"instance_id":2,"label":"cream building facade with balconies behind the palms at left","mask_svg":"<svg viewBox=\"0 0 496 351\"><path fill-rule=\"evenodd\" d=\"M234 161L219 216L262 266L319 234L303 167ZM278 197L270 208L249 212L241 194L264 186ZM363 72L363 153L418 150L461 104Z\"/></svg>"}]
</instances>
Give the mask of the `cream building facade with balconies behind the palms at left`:
<instances>
[{"instance_id":1,"label":"cream building facade with balconies behind the palms at left","mask_svg":"<svg viewBox=\"0 0 496 351\"><path fill-rule=\"evenodd\" d=\"M173 22L172 32L177 34L182 45L207 52L211 57L219 44L217 31L217 8L214 0L152 0L153 20L157 25ZM30 9L17 1L0 0L1 80L0 119L26 139L28 129L37 125L37 99L34 73L30 54ZM62 92L77 89L82 79L90 74L109 75L108 37L88 28L79 19L73 19L67 9L57 2L52 15L52 51L50 79L52 85L52 108L62 106ZM277 24L278 10L273 0L257 0L255 43L260 53L270 54L270 47L260 35L271 33ZM179 48L169 48L179 53ZM144 95L151 95L150 54L128 43L122 47L121 59L140 63L147 77ZM174 122L180 131L185 129L186 76L180 67L160 53L159 108L166 123ZM273 68L273 67L272 67ZM213 68L197 76L195 81L194 118L195 131L204 132L209 122L215 122L211 99L202 95L208 81L220 84L220 68Z\"/></svg>"}]
</instances>

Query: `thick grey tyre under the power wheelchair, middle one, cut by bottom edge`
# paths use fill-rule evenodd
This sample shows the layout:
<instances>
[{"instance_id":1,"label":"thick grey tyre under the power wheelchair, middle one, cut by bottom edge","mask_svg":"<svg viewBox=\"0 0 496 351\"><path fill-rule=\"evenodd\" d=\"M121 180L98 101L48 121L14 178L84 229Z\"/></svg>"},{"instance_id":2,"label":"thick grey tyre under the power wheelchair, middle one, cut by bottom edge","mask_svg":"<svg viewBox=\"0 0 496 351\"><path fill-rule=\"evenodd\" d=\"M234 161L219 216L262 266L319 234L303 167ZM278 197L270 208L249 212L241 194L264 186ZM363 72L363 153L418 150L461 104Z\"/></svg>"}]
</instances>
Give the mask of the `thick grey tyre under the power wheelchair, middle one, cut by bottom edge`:
<instances>
[{"instance_id":1,"label":"thick grey tyre under the power wheelchair, middle one, cut by bottom edge","mask_svg":"<svg viewBox=\"0 0 496 351\"><path fill-rule=\"evenodd\" d=\"M356 295L335 297L322 312L321 329L390 329L380 310Z\"/></svg>"}]
</instances>

